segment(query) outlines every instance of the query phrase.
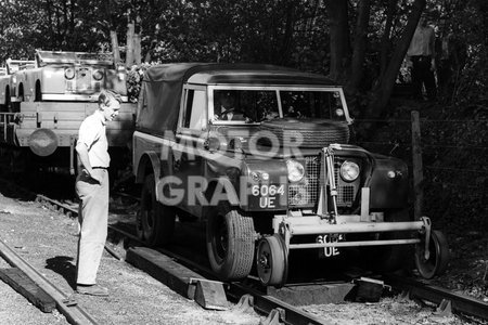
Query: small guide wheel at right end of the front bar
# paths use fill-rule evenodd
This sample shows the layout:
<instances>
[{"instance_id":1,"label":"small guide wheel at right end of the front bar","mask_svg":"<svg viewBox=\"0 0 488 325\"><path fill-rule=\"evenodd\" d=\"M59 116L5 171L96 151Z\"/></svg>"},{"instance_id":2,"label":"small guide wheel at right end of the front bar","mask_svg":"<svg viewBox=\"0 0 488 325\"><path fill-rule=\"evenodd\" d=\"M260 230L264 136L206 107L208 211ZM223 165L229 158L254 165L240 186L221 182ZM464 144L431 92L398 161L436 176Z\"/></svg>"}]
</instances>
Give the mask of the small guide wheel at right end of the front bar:
<instances>
[{"instance_id":1,"label":"small guide wheel at right end of the front bar","mask_svg":"<svg viewBox=\"0 0 488 325\"><path fill-rule=\"evenodd\" d=\"M428 243L429 257L425 259L425 242L416 244L415 265L424 278L433 278L446 271L449 262L449 245L439 231L432 231Z\"/></svg>"}]
</instances>

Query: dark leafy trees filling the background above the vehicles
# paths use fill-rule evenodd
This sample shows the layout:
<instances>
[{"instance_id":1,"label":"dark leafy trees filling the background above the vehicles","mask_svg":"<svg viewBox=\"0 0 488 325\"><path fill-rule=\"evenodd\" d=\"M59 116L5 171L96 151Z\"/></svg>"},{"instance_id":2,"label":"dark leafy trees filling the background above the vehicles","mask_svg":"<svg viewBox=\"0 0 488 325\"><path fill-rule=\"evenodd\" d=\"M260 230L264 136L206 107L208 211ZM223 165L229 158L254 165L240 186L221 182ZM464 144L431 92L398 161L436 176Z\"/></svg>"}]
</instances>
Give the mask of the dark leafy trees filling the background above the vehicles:
<instances>
[{"instance_id":1,"label":"dark leafy trees filling the background above the vehicles","mask_svg":"<svg viewBox=\"0 0 488 325\"><path fill-rule=\"evenodd\" d=\"M111 30L124 47L132 21L151 63L270 63L321 73L347 84L356 116L384 119L394 113L389 96L421 12L435 26L438 50L448 49L437 57L439 107L486 121L486 0L0 0L0 62L31 60L35 49L111 51ZM130 76L134 94L139 72ZM484 126L429 131L463 143L485 134Z\"/></svg>"}]
</instances>

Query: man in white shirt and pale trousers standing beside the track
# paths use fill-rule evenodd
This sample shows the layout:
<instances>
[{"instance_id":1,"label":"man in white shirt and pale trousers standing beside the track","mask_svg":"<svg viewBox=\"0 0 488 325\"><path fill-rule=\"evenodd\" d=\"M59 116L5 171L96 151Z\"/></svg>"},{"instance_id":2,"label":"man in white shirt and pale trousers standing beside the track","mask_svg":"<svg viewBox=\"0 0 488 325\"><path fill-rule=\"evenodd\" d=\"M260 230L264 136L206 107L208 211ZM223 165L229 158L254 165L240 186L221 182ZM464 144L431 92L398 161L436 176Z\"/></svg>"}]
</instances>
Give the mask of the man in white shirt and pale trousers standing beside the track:
<instances>
[{"instance_id":1,"label":"man in white shirt and pale trousers standing beside the track","mask_svg":"<svg viewBox=\"0 0 488 325\"><path fill-rule=\"evenodd\" d=\"M76 290L84 295L108 296L108 290L97 284L97 271L108 223L111 157L105 126L118 115L119 108L120 96L103 90L99 95L99 109L81 123L76 144L81 162L76 179L76 193L80 198Z\"/></svg>"}]
</instances>

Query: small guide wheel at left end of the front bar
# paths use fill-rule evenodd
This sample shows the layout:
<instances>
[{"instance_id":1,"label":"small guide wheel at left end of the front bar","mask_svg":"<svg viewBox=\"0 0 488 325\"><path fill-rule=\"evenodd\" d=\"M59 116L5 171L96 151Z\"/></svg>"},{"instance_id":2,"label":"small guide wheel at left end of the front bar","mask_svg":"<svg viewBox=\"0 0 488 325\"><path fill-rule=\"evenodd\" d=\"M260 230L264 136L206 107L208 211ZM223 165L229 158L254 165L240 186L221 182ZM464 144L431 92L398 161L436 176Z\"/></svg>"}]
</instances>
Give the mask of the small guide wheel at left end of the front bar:
<instances>
[{"instance_id":1,"label":"small guide wheel at left end of the front bar","mask_svg":"<svg viewBox=\"0 0 488 325\"><path fill-rule=\"evenodd\" d=\"M279 235L274 234L259 240L256 266L264 285L282 287L285 284L288 259L283 239Z\"/></svg>"}]
</instances>

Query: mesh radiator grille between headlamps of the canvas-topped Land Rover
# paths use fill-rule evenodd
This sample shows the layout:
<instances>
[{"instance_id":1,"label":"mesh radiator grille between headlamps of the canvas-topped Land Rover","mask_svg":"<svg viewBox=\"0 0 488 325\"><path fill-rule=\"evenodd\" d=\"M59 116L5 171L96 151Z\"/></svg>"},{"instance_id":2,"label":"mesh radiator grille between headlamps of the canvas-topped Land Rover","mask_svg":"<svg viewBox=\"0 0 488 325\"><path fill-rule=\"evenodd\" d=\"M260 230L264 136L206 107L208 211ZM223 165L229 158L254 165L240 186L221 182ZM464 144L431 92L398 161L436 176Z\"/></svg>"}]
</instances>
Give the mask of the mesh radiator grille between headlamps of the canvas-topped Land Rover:
<instances>
[{"instance_id":1,"label":"mesh radiator grille between headlamps of the canvas-topped Land Rover","mask_svg":"<svg viewBox=\"0 0 488 325\"><path fill-rule=\"evenodd\" d=\"M320 156L306 157L305 180L288 186L288 205L295 207L312 207L317 204L320 193ZM338 172L342 161L335 161L334 176L337 185L337 205L350 207L356 198L355 184L344 182Z\"/></svg>"}]
</instances>

